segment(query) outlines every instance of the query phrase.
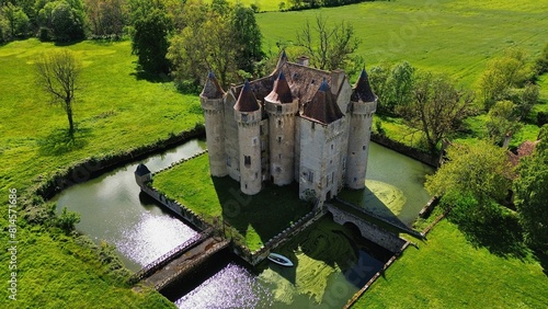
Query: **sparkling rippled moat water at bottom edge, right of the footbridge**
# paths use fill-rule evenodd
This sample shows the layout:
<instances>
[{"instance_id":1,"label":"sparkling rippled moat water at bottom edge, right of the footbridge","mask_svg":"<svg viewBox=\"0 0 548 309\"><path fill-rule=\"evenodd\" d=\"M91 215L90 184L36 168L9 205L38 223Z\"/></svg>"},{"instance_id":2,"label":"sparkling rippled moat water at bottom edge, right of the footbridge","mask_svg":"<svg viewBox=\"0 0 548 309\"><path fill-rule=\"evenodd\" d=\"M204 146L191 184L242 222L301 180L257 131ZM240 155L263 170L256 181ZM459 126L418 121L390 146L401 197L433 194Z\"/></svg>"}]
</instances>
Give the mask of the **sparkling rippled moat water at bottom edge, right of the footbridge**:
<instances>
[{"instance_id":1,"label":"sparkling rippled moat water at bottom edge, right of the footbridge","mask_svg":"<svg viewBox=\"0 0 548 309\"><path fill-rule=\"evenodd\" d=\"M273 297L267 287L244 267L230 263L194 290L175 301L178 308L269 308Z\"/></svg>"}]
</instances>

